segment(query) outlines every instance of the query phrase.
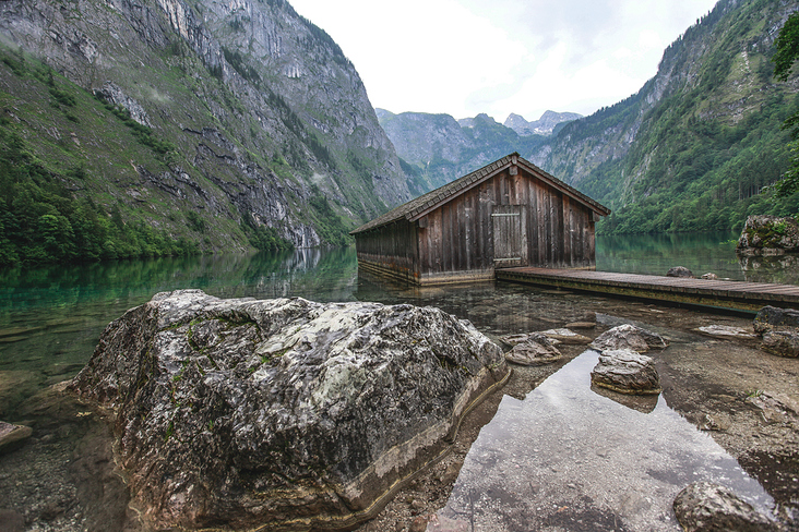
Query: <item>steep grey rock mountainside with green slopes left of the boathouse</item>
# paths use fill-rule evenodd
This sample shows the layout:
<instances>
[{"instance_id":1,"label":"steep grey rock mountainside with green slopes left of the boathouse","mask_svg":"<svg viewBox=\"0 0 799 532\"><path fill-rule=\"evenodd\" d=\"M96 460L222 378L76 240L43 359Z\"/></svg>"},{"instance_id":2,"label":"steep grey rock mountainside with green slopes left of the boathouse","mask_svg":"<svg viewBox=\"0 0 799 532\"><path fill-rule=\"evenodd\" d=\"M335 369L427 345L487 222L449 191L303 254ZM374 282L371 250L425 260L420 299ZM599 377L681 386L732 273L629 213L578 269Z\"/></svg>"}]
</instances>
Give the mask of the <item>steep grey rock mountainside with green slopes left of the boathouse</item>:
<instances>
[{"instance_id":1,"label":"steep grey rock mountainside with green slopes left of the boathouse","mask_svg":"<svg viewBox=\"0 0 799 532\"><path fill-rule=\"evenodd\" d=\"M343 243L410 197L283 0L8 0L0 36L0 263Z\"/></svg>"}]
</instances>

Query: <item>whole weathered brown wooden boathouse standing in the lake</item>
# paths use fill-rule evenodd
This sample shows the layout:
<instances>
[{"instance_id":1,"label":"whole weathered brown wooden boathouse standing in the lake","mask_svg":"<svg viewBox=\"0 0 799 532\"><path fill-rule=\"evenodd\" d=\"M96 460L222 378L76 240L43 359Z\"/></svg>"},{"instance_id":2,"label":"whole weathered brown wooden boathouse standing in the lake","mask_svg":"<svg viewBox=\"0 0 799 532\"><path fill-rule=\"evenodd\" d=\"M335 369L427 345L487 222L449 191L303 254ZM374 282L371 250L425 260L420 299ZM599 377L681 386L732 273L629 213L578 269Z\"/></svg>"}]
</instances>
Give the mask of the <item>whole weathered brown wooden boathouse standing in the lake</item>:
<instances>
[{"instance_id":1,"label":"whole weathered brown wooden boathouse standing in the lake","mask_svg":"<svg viewBox=\"0 0 799 532\"><path fill-rule=\"evenodd\" d=\"M499 268L593 268L610 210L514 153L359 227L358 267L414 285Z\"/></svg>"}]
</instances>

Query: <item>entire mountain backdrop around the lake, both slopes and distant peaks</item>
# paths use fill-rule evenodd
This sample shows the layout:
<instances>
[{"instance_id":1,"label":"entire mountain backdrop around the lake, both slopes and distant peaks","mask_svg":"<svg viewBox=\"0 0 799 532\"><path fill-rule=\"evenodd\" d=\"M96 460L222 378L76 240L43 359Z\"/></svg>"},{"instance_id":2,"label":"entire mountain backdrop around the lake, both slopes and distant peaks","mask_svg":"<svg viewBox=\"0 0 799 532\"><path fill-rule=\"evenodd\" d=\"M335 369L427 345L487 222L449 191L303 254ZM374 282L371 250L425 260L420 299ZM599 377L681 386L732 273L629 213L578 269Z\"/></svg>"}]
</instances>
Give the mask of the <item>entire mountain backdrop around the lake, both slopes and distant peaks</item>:
<instances>
[{"instance_id":1,"label":"entire mountain backdrop around the lake, both slopes and distant peaks","mask_svg":"<svg viewBox=\"0 0 799 532\"><path fill-rule=\"evenodd\" d=\"M722 0L630 98L501 124L375 112L285 0L0 2L0 263L341 244L514 150L610 206L606 231L788 214L759 192L787 168L799 83L770 57L797 9Z\"/></svg>"}]
</instances>

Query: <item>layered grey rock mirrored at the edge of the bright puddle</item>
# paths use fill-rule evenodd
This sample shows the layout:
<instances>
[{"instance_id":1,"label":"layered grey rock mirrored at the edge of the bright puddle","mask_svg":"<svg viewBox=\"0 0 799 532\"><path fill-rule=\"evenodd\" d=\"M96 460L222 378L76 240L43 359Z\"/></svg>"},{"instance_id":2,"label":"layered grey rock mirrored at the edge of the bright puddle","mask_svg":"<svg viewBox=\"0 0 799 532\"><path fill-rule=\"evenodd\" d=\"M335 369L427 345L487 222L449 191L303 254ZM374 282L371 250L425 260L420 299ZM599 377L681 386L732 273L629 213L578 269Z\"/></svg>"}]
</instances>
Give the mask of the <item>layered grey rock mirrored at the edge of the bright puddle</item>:
<instances>
[{"instance_id":1,"label":"layered grey rock mirrored at the edge of the bright puddle","mask_svg":"<svg viewBox=\"0 0 799 532\"><path fill-rule=\"evenodd\" d=\"M631 349L603 351L591 372L591 383L620 394L656 395L663 391L655 362Z\"/></svg>"}]
</instances>

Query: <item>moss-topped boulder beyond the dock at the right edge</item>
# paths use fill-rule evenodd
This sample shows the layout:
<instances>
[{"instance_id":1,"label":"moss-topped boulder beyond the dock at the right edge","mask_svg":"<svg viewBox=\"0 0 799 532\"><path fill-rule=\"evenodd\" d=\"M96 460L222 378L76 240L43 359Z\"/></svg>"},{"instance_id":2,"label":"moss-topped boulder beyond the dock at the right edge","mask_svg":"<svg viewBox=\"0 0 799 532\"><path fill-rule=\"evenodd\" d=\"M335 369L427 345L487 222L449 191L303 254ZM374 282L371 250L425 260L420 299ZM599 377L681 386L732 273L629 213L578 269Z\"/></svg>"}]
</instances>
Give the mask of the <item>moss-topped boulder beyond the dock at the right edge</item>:
<instances>
[{"instance_id":1,"label":"moss-topped boulder beyond the dock at the right edge","mask_svg":"<svg viewBox=\"0 0 799 532\"><path fill-rule=\"evenodd\" d=\"M738 239L739 255L799 253L799 223L794 218L750 216Z\"/></svg>"}]
</instances>

